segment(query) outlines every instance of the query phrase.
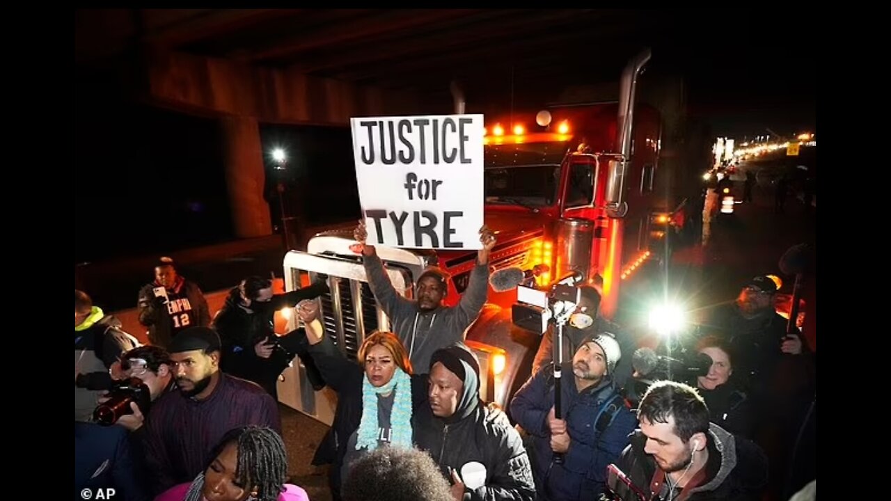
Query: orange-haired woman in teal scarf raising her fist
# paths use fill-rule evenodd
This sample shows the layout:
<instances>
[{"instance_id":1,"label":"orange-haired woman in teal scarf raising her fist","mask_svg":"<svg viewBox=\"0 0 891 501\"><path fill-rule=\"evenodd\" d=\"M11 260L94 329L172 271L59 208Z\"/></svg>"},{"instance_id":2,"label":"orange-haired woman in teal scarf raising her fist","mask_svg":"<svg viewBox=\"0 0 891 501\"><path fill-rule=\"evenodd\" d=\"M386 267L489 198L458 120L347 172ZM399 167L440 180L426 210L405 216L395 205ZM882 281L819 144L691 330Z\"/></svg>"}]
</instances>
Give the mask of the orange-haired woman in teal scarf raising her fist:
<instances>
[{"instance_id":1,"label":"orange-haired woman in teal scarf raising her fist","mask_svg":"<svg viewBox=\"0 0 891 501\"><path fill-rule=\"evenodd\" d=\"M412 416L415 409L429 406L427 377L412 374L408 353L394 333L369 334L356 364L324 335L316 301L301 302L297 312L306 324L309 355L338 393L331 431L313 464L331 463L331 494L340 499L349 465L365 452L413 447Z\"/></svg>"}]
</instances>

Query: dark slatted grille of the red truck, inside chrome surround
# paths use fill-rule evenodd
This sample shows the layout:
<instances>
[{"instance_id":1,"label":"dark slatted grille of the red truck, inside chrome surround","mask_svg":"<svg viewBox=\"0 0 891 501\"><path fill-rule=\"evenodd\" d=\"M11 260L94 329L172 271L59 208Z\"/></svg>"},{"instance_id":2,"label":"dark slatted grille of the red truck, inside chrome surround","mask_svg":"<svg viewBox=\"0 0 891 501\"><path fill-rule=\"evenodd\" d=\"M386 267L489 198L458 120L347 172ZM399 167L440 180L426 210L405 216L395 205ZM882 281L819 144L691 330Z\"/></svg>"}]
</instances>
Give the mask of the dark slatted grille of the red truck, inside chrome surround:
<instances>
[{"instance_id":1,"label":"dark slatted grille of the red truck, inside chrome surround","mask_svg":"<svg viewBox=\"0 0 891 501\"><path fill-rule=\"evenodd\" d=\"M331 291L320 296L325 334L355 359L365 334L378 329L378 304L368 283L329 276L328 286ZM359 315L356 306L361 307Z\"/></svg>"}]
</instances>

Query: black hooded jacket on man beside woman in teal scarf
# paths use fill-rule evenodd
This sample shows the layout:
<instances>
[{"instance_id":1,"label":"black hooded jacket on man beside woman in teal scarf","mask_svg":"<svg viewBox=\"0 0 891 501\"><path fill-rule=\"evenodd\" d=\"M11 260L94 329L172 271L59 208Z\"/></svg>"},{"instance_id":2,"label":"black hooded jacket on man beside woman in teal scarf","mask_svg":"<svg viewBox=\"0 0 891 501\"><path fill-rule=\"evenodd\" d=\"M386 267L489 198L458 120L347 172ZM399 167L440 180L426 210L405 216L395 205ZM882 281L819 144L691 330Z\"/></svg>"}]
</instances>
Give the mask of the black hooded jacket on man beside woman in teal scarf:
<instances>
[{"instance_id":1,"label":"black hooded jacket on man beside woman in teal scarf","mask_svg":"<svg viewBox=\"0 0 891 501\"><path fill-rule=\"evenodd\" d=\"M486 482L477 489L465 489L464 501L535 499L535 483L526 449L507 415L485 407L479 399L479 364L463 344L438 349L430 357L462 380L462 395L454 415L439 418L429 410L415 419L415 441L428 451L446 479L452 471L472 461L486 467ZM465 480L466 481L466 480Z\"/></svg>"}]
</instances>

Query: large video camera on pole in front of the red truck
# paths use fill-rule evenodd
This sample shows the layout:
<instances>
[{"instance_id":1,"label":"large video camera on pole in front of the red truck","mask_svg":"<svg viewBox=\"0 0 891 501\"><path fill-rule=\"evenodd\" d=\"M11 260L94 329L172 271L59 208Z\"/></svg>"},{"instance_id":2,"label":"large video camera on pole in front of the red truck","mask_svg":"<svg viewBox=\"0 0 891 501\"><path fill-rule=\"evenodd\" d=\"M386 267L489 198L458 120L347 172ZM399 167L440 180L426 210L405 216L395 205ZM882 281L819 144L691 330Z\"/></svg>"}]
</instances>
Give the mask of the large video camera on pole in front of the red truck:
<instances>
[{"instance_id":1,"label":"large video camera on pole in front of the red truck","mask_svg":"<svg viewBox=\"0 0 891 501\"><path fill-rule=\"evenodd\" d=\"M522 329L539 335L548 330L548 324L565 324L576 311L582 290L576 283L584 281L584 275L573 272L561 278L547 291L519 285L517 302L511 305L511 321Z\"/></svg>"}]
</instances>

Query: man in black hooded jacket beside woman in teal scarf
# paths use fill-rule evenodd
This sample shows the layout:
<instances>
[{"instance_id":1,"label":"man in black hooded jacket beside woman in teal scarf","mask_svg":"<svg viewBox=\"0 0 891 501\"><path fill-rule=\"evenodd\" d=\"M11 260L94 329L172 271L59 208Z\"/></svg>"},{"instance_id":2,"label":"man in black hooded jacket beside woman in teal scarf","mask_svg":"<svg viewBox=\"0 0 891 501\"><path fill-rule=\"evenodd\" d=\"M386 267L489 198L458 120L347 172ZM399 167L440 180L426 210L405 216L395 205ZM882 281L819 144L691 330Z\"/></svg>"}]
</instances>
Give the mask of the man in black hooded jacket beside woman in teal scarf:
<instances>
[{"instance_id":1,"label":"man in black hooded jacket beside woman in teal scarf","mask_svg":"<svg viewBox=\"0 0 891 501\"><path fill-rule=\"evenodd\" d=\"M429 413L414 416L414 438L462 501L532 501L535 483L519 433L479 399L479 362L463 344L430 357Z\"/></svg>"}]
</instances>

